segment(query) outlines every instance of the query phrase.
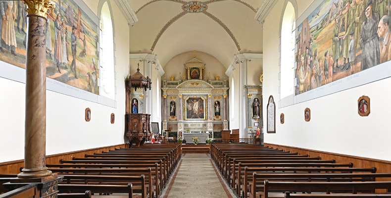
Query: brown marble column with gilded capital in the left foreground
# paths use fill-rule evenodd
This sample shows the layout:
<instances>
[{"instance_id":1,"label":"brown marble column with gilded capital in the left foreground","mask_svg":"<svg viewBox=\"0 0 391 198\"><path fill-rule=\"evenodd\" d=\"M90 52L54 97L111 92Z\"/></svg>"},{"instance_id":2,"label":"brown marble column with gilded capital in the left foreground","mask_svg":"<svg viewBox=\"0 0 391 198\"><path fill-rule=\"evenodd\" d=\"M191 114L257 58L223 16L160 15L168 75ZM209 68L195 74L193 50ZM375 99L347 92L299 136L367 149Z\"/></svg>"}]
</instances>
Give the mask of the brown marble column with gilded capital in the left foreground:
<instances>
[{"instance_id":1,"label":"brown marble column with gilded capital in the left foreground","mask_svg":"<svg viewBox=\"0 0 391 198\"><path fill-rule=\"evenodd\" d=\"M27 5L26 120L24 168L18 178L51 175L46 167L46 15L55 0L25 0Z\"/></svg>"}]
</instances>

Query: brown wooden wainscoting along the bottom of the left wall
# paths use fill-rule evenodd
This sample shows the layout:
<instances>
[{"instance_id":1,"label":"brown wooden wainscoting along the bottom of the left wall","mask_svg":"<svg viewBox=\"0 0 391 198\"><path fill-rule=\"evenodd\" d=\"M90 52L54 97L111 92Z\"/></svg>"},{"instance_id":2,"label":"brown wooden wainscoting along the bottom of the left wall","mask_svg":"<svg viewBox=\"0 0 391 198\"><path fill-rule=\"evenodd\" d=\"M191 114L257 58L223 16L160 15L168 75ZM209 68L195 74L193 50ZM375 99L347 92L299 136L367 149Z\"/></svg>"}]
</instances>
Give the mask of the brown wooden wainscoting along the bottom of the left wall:
<instances>
[{"instance_id":1,"label":"brown wooden wainscoting along the bottom of the left wall","mask_svg":"<svg viewBox=\"0 0 391 198\"><path fill-rule=\"evenodd\" d=\"M85 150L77 150L72 152L64 152L46 156L47 164L58 164L60 159L72 160L72 157L84 157L85 154L101 153L102 151L114 150L115 148L128 148L127 144L114 145L108 147L91 148ZM20 167L24 166L24 160L7 161L0 163L0 174L18 174Z\"/></svg>"}]
</instances>

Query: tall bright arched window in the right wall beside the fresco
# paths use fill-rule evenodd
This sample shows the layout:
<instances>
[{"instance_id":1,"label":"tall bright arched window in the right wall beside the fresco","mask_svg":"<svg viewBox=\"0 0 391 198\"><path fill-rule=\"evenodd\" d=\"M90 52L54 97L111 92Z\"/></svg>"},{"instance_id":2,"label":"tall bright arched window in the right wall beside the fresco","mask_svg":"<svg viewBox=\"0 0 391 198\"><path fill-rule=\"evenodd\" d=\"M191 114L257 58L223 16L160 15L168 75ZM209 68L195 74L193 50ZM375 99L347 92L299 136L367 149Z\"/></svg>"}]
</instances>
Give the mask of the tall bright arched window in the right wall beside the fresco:
<instances>
[{"instance_id":1,"label":"tall bright arched window in the right wall beside the fresco","mask_svg":"<svg viewBox=\"0 0 391 198\"><path fill-rule=\"evenodd\" d=\"M293 95L294 46L296 19L293 5L288 1L281 25L281 91L280 99ZM305 32L305 30L304 30Z\"/></svg>"}]
</instances>

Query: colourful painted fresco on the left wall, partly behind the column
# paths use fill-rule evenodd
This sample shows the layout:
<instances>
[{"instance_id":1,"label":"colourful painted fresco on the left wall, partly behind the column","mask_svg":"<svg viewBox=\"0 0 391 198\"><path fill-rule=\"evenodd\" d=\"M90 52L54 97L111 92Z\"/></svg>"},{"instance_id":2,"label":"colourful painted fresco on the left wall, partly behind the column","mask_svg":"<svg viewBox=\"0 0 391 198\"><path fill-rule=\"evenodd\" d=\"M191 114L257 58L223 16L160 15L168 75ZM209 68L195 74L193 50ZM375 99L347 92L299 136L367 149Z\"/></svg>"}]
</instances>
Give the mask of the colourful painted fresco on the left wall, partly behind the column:
<instances>
[{"instance_id":1,"label":"colourful painted fresco on the left wall, partly behind the column","mask_svg":"<svg viewBox=\"0 0 391 198\"><path fill-rule=\"evenodd\" d=\"M22 1L0 1L0 60L21 68L26 68L24 10ZM73 0L59 0L46 26L47 77L99 94L97 24Z\"/></svg>"}]
</instances>

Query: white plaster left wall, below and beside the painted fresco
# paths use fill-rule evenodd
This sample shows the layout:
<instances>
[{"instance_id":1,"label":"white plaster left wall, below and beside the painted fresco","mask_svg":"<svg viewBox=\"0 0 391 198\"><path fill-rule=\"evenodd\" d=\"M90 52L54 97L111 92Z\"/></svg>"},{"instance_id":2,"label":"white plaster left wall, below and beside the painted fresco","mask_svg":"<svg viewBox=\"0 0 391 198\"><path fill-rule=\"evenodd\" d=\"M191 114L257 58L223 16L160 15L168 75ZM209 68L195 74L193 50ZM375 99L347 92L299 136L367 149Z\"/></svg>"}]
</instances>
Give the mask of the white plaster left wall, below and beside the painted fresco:
<instances>
[{"instance_id":1,"label":"white plaster left wall, below and beside the painted fresco","mask_svg":"<svg viewBox=\"0 0 391 198\"><path fill-rule=\"evenodd\" d=\"M98 0L85 0L98 13ZM129 73L129 29L111 1L115 27L116 108L47 91L46 154L124 143L125 78ZM2 62L0 62L2 64ZM6 72L6 71L0 71ZM91 109L91 121L84 119ZM24 158L25 84L0 78L0 162ZM115 123L110 123L110 114Z\"/></svg>"}]
</instances>

